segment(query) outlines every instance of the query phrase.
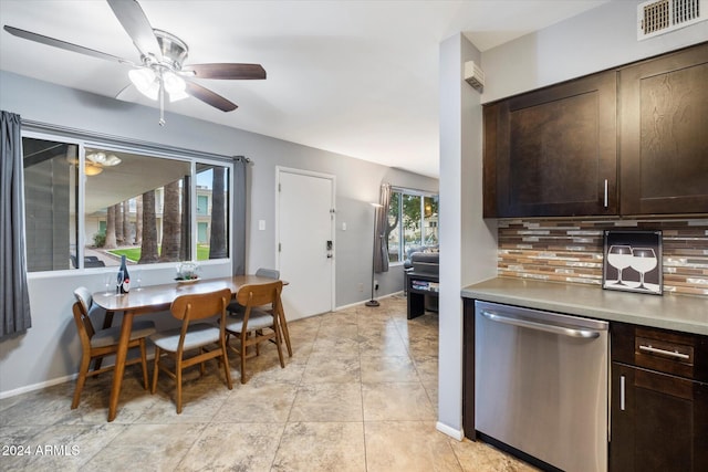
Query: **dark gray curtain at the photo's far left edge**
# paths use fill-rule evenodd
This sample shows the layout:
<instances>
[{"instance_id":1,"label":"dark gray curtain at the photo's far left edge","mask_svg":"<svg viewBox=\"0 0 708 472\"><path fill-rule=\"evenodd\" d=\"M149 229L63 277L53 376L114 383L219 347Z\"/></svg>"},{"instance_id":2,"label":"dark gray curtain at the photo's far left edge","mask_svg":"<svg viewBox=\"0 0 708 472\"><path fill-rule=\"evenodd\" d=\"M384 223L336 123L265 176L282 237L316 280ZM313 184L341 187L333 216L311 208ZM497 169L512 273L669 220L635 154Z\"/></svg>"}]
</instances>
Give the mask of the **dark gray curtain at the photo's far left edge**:
<instances>
[{"instance_id":1,"label":"dark gray curtain at the photo's far left edge","mask_svg":"<svg viewBox=\"0 0 708 472\"><path fill-rule=\"evenodd\" d=\"M0 338L32 326L24 250L24 196L20 115L1 112Z\"/></svg>"}]
</instances>

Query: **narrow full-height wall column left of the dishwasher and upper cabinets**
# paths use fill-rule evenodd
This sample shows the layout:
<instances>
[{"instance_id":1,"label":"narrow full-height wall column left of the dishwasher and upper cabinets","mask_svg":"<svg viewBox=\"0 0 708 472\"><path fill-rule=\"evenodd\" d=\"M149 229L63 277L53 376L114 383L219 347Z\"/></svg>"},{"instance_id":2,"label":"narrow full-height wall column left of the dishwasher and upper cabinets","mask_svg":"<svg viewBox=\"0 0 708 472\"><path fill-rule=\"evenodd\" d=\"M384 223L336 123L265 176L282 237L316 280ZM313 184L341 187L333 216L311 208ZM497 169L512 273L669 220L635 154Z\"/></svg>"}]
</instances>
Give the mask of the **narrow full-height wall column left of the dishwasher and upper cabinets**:
<instances>
[{"instance_id":1,"label":"narrow full-height wall column left of the dishwasher and upper cabinets","mask_svg":"<svg viewBox=\"0 0 708 472\"><path fill-rule=\"evenodd\" d=\"M462 438L460 289L497 274L496 221L482 220L482 109L464 80L479 51L461 34L440 45L440 304L437 428Z\"/></svg>"}]
</instances>

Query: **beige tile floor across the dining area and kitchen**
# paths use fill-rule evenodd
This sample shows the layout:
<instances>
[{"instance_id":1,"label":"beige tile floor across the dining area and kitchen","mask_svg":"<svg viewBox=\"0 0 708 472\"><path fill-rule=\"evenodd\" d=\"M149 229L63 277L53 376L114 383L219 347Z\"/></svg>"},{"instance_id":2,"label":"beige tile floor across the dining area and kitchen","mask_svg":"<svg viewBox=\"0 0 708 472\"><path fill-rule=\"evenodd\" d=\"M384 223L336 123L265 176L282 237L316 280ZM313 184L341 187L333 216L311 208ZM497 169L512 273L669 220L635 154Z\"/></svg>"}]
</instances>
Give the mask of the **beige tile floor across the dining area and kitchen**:
<instances>
[{"instance_id":1,"label":"beige tile floor across the dining area and kitchen","mask_svg":"<svg viewBox=\"0 0 708 472\"><path fill-rule=\"evenodd\" d=\"M181 415L173 381L160 376L150 395L137 366L126 370L111 423L110 374L86 381L76 410L74 382L0 400L0 470L534 470L435 429L437 315L408 321L405 298L394 296L289 326L284 369L267 346L241 385L233 355L228 390L212 361L205 377L185 381Z\"/></svg>"}]
</instances>

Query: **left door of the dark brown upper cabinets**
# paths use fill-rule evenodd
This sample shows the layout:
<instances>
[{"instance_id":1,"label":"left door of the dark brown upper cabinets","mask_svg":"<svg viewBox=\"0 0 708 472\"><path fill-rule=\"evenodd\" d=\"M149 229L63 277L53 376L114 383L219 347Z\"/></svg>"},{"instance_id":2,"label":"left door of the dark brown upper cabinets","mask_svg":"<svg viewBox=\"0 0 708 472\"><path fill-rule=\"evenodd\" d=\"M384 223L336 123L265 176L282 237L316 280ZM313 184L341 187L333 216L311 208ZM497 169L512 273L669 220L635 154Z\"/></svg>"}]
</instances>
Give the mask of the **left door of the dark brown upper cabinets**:
<instances>
[{"instance_id":1,"label":"left door of the dark brown upper cabinets","mask_svg":"<svg viewBox=\"0 0 708 472\"><path fill-rule=\"evenodd\" d=\"M486 217L617 213L615 72L489 106L485 139Z\"/></svg>"}]
</instances>

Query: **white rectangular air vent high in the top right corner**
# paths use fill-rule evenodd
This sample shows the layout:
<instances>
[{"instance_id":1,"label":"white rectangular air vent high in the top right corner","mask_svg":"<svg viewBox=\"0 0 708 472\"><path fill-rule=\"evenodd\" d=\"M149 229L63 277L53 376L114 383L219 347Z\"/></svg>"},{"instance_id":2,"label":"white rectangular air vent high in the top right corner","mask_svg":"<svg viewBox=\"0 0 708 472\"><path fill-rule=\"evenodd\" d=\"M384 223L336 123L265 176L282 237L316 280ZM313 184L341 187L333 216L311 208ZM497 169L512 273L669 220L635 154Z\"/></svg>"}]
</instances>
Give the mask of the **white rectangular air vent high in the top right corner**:
<instances>
[{"instance_id":1,"label":"white rectangular air vent high in the top right corner","mask_svg":"<svg viewBox=\"0 0 708 472\"><path fill-rule=\"evenodd\" d=\"M637 6L637 39L708 20L708 0L650 0Z\"/></svg>"}]
</instances>

